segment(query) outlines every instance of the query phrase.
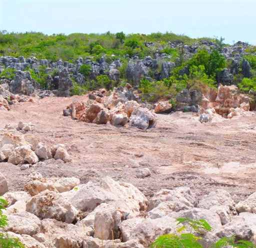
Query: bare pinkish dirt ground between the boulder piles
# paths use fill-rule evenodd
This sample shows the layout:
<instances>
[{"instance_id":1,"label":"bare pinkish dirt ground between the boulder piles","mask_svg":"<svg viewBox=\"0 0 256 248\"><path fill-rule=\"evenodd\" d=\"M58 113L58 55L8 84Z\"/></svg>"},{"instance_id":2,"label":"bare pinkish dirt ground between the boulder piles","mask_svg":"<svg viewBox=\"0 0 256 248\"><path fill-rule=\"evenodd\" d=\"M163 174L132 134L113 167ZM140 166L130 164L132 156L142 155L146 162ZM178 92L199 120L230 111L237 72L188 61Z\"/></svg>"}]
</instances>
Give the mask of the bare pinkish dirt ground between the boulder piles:
<instances>
[{"instance_id":1,"label":"bare pinkish dirt ground between the boulder piles","mask_svg":"<svg viewBox=\"0 0 256 248\"><path fill-rule=\"evenodd\" d=\"M75 176L81 183L103 176L131 183L147 197L161 188L189 186L197 193L217 188L243 199L256 191L256 114L201 124L192 113L158 115L156 128L142 131L78 122L62 110L74 99L44 98L0 113L0 129L18 121L35 124L27 135L53 145L63 143L71 163L48 160L25 171L0 163L9 190L23 190L27 175ZM142 156L143 155L143 156ZM142 156L142 157L141 157ZM137 168L149 168L151 176L136 178Z\"/></svg>"}]
</instances>

